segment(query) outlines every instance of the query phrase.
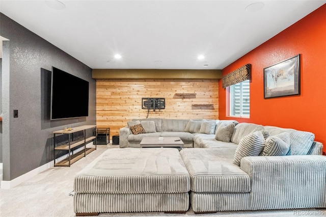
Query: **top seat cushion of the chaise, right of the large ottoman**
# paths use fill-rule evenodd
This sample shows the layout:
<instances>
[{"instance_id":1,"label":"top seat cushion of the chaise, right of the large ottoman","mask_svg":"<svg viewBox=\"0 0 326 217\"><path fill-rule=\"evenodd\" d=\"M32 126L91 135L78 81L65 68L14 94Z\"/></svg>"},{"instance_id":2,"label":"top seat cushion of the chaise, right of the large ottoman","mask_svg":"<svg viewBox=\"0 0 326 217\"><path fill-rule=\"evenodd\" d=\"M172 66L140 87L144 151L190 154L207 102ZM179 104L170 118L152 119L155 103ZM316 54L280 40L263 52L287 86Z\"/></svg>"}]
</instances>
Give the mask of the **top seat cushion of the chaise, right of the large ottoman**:
<instances>
[{"instance_id":1,"label":"top seat cushion of the chaise, right of the large ottoman","mask_svg":"<svg viewBox=\"0 0 326 217\"><path fill-rule=\"evenodd\" d=\"M232 163L233 148L183 149L180 155L191 177L194 192L249 192L247 173Z\"/></svg>"}]
</instances>

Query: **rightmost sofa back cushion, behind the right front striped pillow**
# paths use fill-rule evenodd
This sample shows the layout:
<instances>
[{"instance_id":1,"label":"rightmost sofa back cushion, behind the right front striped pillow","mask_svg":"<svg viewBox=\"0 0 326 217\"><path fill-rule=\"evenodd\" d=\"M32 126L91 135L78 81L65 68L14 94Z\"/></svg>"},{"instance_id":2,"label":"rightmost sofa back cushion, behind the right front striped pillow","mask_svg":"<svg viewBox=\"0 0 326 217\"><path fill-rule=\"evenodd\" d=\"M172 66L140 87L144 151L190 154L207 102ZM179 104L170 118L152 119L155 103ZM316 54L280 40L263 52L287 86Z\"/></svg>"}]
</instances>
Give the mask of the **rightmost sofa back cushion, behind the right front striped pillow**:
<instances>
[{"instance_id":1,"label":"rightmost sofa back cushion, behind the right front striped pillow","mask_svg":"<svg viewBox=\"0 0 326 217\"><path fill-rule=\"evenodd\" d=\"M271 136L288 132L290 134L290 150L287 155L306 155L308 154L315 135L311 132L286 129L274 126L265 126L265 130L269 131Z\"/></svg>"}]
</instances>

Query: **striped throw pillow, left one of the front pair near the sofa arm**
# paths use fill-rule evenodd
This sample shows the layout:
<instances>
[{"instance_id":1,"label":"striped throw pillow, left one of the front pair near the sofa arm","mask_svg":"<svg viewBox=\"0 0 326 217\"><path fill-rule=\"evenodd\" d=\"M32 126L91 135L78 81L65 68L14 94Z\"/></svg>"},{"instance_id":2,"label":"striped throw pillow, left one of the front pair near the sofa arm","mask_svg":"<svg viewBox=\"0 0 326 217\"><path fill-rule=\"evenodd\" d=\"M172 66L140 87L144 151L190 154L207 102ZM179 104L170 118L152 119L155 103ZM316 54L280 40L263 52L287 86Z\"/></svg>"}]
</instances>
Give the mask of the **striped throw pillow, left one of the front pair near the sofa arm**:
<instances>
[{"instance_id":1,"label":"striped throw pillow, left one of the front pair near the sofa arm","mask_svg":"<svg viewBox=\"0 0 326 217\"><path fill-rule=\"evenodd\" d=\"M244 136L235 150L233 163L240 166L243 157L258 156L264 148L264 143L264 136L259 131Z\"/></svg>"}]
</instances>

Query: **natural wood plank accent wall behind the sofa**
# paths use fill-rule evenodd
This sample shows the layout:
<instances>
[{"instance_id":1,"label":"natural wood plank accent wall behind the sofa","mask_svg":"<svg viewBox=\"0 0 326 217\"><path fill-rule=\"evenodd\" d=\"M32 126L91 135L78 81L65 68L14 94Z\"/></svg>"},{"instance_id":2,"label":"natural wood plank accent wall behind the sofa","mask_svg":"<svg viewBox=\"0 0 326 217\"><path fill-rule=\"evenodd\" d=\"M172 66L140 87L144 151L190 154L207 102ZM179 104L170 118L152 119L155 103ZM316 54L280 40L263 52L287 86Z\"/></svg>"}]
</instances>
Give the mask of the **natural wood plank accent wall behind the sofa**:
<instances>
[{"instance_id":1,"label":"natural wood plank accent wall behind the sofa","mask_svg":"<svg viewBox=\"0 0 326 217\"><path fill-rule=\"evenodd\" d=\"M176 93L195 93L196 98L175 99ZM165 98L166 108L151 110L148 117L218 119L218 80L96 80L96 125L110 127L113 135L132 118L146 118L142 98ZM212 104L213 109L193 109L193 104Z\"/></svg>"}]
</instances>

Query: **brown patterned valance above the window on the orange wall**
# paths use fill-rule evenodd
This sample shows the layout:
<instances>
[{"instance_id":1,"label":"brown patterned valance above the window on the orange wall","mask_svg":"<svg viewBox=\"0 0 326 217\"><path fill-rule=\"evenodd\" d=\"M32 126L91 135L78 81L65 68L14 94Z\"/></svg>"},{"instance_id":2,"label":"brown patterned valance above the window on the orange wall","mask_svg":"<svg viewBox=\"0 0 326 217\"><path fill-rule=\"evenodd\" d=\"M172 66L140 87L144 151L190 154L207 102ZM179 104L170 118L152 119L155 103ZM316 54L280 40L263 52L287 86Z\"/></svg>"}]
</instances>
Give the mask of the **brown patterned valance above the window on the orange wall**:
<instances>
[{"instance_id":1,"label":"brown patterned valance above the window on the orange wall","mask_svg":"<svg viewBox=\"0 0 326 217\"><path fill-rule=\"evenodd\" d=\"M246 64L222 77L222 87L226 88L233 84L251 79L251 64Z\"/></svg>"}]
</instances>

